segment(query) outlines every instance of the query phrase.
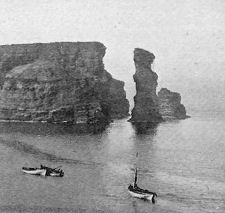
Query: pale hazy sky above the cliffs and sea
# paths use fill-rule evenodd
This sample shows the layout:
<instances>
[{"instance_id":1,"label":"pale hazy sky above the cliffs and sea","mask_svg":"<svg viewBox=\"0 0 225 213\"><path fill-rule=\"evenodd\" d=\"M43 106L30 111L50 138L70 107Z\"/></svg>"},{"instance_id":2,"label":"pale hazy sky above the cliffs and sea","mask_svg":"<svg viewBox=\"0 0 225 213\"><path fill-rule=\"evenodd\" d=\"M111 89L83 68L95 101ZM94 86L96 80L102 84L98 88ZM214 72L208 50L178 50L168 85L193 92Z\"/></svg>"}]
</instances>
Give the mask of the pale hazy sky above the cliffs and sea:
<instances>
[{"instance_id":1,"label":"pale hazy sky above the cliffs and sea","mask_svg":"<svg viewBox=\"0 0 225 213\"><path fill-rule=\"evenodd\" d=\"M113 77L135 95L133 49L156 56L159 88L187 108L224 109L225 0L0 0L0 45L100 41Z\"/></svg>"}]
</instances>

